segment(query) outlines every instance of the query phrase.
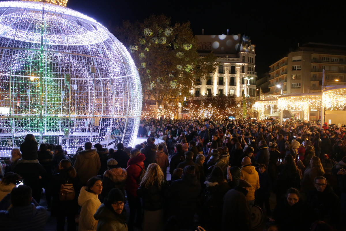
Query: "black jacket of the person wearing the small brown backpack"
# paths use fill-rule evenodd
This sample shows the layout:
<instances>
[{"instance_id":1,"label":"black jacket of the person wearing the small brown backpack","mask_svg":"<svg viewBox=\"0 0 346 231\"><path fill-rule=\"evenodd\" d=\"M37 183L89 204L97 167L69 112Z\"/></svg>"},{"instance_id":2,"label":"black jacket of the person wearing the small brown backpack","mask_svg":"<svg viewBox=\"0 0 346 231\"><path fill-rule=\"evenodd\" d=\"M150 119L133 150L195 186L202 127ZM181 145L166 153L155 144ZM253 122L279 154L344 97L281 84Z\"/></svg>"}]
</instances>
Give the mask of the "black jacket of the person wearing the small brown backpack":
<instances>
[{"instance_id":1,"label":"black jacket of the person wearing the small brown backpack","mask_svg":"<svg viewBox=\"0 0 346 231\"><path fill-rule=\"evenodd\" d=\"M60 201L59 199L60 187L65 183L73 185L74 199L72 201ZM66 169L61 169L58 174L54 174L48 187L50 194L53 196L51 215L56 216L57 214L66 213L66 211L76 214L79 208L78 195L81 187L81 180L78 174L75 178L71 178Z\"/></svg>"}]
</instances>

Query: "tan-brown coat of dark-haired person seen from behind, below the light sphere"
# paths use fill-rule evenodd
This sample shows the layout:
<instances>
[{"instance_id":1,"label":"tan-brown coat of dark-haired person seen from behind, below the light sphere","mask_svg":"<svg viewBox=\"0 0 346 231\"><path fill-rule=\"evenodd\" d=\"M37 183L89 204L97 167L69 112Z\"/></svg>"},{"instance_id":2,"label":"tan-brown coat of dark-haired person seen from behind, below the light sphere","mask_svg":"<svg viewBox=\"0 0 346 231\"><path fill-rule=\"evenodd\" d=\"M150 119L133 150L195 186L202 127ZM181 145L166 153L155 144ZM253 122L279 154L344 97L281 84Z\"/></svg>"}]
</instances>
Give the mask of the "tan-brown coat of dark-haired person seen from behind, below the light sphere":
<instances>
[{"instance_id":1,"label":"tan-brown coat of dark-haired person seen from behind, below the light sphere","mask_svg":"<svg viewBox=\"0 0 346 231\"><path fill-rule=\"evenodd\" d=\"M96 153L96 149L85 149L79 151L77 154L74 168L78 172L82 185L86 185L86 182L94 176L97 176L98 171L101 168L100 157Z\"/></svg>"}]
</instances>

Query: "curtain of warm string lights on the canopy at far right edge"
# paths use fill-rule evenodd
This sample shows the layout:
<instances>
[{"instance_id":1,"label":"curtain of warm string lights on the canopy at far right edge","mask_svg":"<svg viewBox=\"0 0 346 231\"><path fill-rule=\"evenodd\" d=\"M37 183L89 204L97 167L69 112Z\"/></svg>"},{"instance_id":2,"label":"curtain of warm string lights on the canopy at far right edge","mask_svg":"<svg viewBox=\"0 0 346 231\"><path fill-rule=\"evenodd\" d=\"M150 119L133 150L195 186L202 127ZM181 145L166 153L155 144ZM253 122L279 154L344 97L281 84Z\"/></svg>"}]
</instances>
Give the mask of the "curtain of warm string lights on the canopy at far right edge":
<instances>
[{"instance_id":1,"label":"curtain of warm string lights on the canopy at far right edge","mask_svg":"<svg viewBox=\"0 0 346 231\"><path fill-rule=\"evenodd\" d=\"M325 89L322 93L322 104L326 110L345 110L346 87L332 90Z\"/></svg>"}]
</instances>

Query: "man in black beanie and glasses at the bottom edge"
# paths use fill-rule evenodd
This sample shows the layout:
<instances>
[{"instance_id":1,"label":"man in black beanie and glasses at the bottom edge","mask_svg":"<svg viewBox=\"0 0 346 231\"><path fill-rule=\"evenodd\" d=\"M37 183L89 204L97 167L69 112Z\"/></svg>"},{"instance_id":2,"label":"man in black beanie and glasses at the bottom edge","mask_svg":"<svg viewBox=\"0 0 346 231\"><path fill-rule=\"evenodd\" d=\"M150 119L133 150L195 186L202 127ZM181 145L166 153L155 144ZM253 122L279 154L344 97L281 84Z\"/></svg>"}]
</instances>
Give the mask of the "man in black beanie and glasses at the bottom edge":
<instances>
[{"instance_id":1,"label":"man in black beanie and glasses at the bottom edge","mask_svg":"<svg viewBox=\"0 0 346 231\"><path fill-rule=\"evenodd\" d=\"M126 219L122 213L124 210L125 197L122 192L113 188L110 190L107 198L104 198L94 219L98 221L97 231L127 231Z\"/></svg>"}]
</instances>

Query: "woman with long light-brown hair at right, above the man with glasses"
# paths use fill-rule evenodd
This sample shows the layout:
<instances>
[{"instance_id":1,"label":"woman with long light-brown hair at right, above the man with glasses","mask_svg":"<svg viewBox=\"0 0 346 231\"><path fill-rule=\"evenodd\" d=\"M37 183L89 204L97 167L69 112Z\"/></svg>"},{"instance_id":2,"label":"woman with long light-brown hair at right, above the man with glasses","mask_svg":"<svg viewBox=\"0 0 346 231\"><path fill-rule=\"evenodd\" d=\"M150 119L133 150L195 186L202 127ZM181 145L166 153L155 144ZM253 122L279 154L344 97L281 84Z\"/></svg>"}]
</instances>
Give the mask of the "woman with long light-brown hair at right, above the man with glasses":
<instances>
[{"instance_id":1,"label":"woman with long light-brown hair at right, above the man with glasses","mask_svg":"<svg viewBox=\"0 0 346 231\"><path fill-rule=\"evenodd\" d=\"M298 160L299 167L304 168L303 163ZM309 166L304 171L303 179L301 181L302 192L308 192L315 188L313 185L314 179L317 176L323 176L325 171L322 167L321 160L317 156L313 156L310 160Z\"/></svg>"}]
</instances>

